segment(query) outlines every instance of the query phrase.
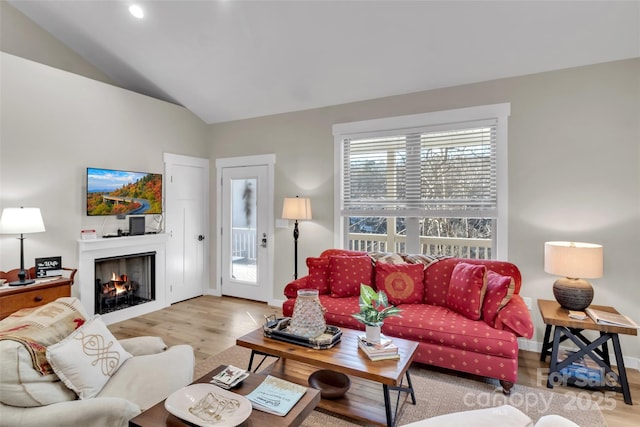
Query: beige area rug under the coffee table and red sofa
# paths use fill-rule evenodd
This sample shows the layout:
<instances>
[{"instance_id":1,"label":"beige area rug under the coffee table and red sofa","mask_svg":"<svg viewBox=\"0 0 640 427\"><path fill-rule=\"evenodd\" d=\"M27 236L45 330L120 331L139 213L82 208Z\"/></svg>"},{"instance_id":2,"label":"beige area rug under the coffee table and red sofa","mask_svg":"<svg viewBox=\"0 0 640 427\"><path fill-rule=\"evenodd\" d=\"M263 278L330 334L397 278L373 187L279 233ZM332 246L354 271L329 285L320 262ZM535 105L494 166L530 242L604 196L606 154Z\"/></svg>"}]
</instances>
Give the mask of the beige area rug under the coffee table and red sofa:
<instances>
[{"instance_id":1,"label":"beige area rug under the coffee table and red sofa","mask_svg":"<svg viewBox=\"0 0 640 427\"><path fill-rule=\"evenodd\" d=\"M219 365L231 364L246 368L249 363L249 349L234 346L210 356L196 366L195 378L211 371ZM265 363L272 363L269 358ZM255 361L254 361L255 364ZM261 367L264 368L264 365ZM435 417L452 412L471 409L511 405L527 414L534 423L543 415L562 415L580 426L601 427L606 422L600 409L589 398L580 395L578 389L563 389L553 392L516 384L511 396L504 396L497 381L460 378L444 372L428 369L420 364L410 368L417 404L409 401L399 414L398 425ZM381 389L382 393L382 389ZM392 401L395 401L392 396ZM352 427L367 424L339 417L322 410L315 410L302 424L304 427Z\"/></svg>"}]
</instances>

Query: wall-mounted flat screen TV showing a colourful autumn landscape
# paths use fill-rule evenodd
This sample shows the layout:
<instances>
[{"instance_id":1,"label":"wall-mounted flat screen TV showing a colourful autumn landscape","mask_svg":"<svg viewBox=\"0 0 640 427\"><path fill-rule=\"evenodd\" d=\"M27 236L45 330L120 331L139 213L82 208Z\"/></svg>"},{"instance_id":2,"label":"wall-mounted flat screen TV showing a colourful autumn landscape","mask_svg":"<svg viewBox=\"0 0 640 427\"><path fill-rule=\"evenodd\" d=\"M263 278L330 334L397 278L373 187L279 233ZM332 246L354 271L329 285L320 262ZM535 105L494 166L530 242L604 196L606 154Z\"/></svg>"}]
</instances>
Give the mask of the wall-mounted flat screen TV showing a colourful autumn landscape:
<instances>
[{"instance_id":1,"label":"wall-mounted flat screen TV showing a colourful autumn landscape","mask_svg":"<svg viewBox=\"0 0 640 427\"><path fill-rule=\"evenodd\" d=\"M87 168L87 215L162 213L162 174Z\"/></svg>"}]
</instances>

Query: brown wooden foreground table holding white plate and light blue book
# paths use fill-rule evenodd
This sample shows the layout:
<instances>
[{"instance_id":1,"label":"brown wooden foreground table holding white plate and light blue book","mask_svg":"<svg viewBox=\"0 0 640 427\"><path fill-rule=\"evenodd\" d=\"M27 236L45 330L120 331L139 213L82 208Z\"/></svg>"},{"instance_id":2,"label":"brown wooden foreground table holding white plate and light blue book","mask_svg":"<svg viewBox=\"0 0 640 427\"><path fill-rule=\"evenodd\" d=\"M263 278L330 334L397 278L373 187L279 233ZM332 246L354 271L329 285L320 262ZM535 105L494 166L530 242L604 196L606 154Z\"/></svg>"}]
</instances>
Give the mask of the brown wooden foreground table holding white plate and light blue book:
<instances>
[{"instance_id":1,"label":"brown wooden foreground table holding white plate and light blue book","mask_svg":"<svg viewBox=\"0 0 640 427\"><path fill-rule=\"evenodd\" d=\"M214 375L224 369L226 365L218 366L213 371L202 376L195 383L208 383ZM234 388L234 393L240 395L247 395L253 391L256 387L262 383L266 375L254 374L249 375L242 384ZM249 418L242 424L243 427L295 427L302 424L305 418L307 418L311 412L315 409L316 405L320 402L320 392L316 389L307 387L307 392L302 396L300 401L289 411L284 417L277 415L267 414L266 412L258 411L254 409L251 411ZM175 415L171 414L164 407L164 400L155 406L152 406L148 410L144 411L137 417L129 420L129 426L135 427L147 427L147 426L171 426L171 427L192 427L193 424L181 420Z\"/></svg>"}]
</instances>

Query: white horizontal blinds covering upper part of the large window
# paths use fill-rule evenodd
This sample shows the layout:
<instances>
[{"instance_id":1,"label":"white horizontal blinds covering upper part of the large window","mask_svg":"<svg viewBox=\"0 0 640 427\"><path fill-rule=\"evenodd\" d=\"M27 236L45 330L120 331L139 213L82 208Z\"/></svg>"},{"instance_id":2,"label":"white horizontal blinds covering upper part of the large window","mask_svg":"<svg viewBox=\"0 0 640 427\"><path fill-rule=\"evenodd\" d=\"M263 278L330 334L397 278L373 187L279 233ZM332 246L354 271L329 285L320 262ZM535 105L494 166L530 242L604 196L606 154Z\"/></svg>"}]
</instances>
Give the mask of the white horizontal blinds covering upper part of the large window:
<instances>
[{"instance_id":1,"label":"white horizontal blinds covering upper part of the large window","mask_svg":"<svg viewBox=\"0 0 640 427\"><path fill-rule=\"evenodd\" d=\"M495 217L497 120L343 139L345 215Z\"/></svg>"}]
</instances>

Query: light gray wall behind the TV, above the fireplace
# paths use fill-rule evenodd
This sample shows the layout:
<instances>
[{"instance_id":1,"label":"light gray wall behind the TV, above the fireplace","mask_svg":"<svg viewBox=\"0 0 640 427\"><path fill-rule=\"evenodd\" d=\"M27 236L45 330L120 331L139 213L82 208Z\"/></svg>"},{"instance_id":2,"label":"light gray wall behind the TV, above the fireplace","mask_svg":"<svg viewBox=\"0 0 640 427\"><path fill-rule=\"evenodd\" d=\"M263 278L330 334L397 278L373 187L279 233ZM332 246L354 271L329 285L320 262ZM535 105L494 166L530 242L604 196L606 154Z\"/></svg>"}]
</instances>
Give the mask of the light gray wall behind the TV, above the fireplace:
<instances>
[{"instance_id":1,"label":"light gray wall behind the TV, above the fireplace","mask_svg":"<svg viewBox=\"0 0 640 427\"><path fill-rule=\"evenodd\" d=\"M164 152L208 155L207 125L182 107L4 52L0 63L0 209L39 207L46 227L26 235L26 267L57 255L77 267L80 230L128 228L86 216L88 166L163 173ZM0 270L19 265L15 237L0 235Z\"/></svg>"}]
</instances>

